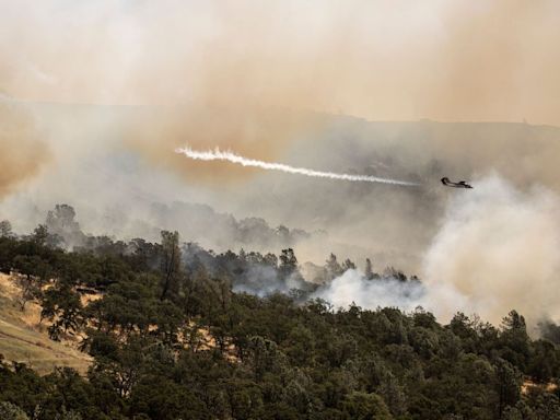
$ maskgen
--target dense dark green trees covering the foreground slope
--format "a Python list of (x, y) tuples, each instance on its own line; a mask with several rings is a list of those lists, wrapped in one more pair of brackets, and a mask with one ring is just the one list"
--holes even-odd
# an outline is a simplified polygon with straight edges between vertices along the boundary
[[(534, 340), (515, 311), (497, 328), (462, 313), (441, 325), (422, 308), (334, 308), (307, 299), (315, 285), (291, 249), (215, 255), (165, 231), (155, 244), (62, 242), (2, 222), (0, 270), (22, 310), (40, 303), (51, 339), (79, 335), (94, 363), (86, 377), (39, 376), (0, 360), (2, 419), (560, 419), (552, 324)], [(331, 256), (326, 281), (352, 267)], [(292, 290), (233, 291), (259, 273)], [(522, 393), (527, 378), (544, 385)]]

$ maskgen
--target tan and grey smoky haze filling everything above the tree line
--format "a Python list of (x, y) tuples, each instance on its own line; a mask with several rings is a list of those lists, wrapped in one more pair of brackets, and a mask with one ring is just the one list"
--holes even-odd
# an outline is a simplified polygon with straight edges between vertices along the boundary
[[(516, 238), (535, 243), (541, 228), (532, 221), (550, 219), (541, 201), (560, 191), (558, 2), (0, 7), (0, 219), (18, 231), (68, 202), (85, 232), (156, 240), (160, 229), (177, 229), (217, 250), (289, 244), (316, 264), (330, 252), (359, 266), (371, 257), (378, 270), (393, 265), (427, 284), (450, 283), (492, 319), (508, 305), (537, 317), (540, 300), (556, 314), (545, 287), (523, 292), (537, 280), (558, 291), (545, 280), (556, 255), (534, 250), (547, 267), (539, 270), (523, 262)], [(423, 187), (191, 162), (173, 152), (186, 143)], [(471, 180), (475, 192), (445, 189), (442, 176)], [(471, 208), (462, 200), (485, 208), (494, 197), (506, 205), (489, 214), (504, 219), (475, 210), (468, 223), (454, 219)], [(295, 234), (278, 241), (278, 225)], [(511, 246), (492, 250), (504, 237)], [(463, 273), (469, 256), (503, 278)], [(524, 276), (492, 312), (481, 293), (498, 294), (510, 270)], [(467, 288), (475, 275), (483, 283)]]

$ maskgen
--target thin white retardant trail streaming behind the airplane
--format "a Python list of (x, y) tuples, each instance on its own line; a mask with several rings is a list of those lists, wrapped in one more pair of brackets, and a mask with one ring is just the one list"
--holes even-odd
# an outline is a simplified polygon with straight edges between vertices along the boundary
[(226, 161), (231, 163), (236, 163), (243, 166), (253, 166), (260, 167), (266, 171), (280, 171), (285, 172), (288, 174), (298, 174), (312, 176), (316, 178), (329, 178), (329, 179), (342, 179), (342, 180), (351, 180), (351, 182), (365, 182), (365, 183), (382, 183), (382, 184), (393, 184), (393, 185), (402, 185), (407, 187), (418, 186), (417, 183), (410, 183), (406, 180), (398, 179), (389, 179), (389, 178), (380, 178), (377, 176), (371, 175), (351, 175), (351, 174), (337, 174), (332, 172), (323, 172), (323, 171), (314, 171), (307, 170), (305, 167), (294, 167), (290, 165), (285, 165), (283, 163), (272, 163), (272, 162), (262, 162), (257, 161), (255, 159), (247, 159), (240, 156), (230, 151), (222, 151), (219, 148), (214, 150), (208, 150), (205, 152), (196, 151), (186, 148), (178, 148), (175, 150), (176, 153), (182, 153), (187, 158), (194, 159), (196, 161)]

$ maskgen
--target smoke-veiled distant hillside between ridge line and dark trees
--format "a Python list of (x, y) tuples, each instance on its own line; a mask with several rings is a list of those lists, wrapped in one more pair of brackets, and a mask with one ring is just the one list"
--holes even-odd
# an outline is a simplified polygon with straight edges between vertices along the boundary
[[(0, 202), (2, 218), (11, 220), (19, 232), (28, 232), (43, 222), (54, 202), (68, 202), (81, 215), (82, 230), (97, 235), (156, 241), (160, 230), (177, 230), (215, 252), (244, 247), (268, 253), (292, 247), (314, 264), (334, 252), (353, 260), (370, 257), (382, 268), (396, 265), (418, 273), (448, 201), (457, 196), (457, 191), (441, 188), (443, 176), (469, 180), (477, 187), (486, 177), (498, 175), (521, 192), (535, 186), (555, 194), (560, 190), (557, 127), (384, 122), (293, 112), (290, 119), (308, 121), (312, 132), (285, 137), (278, 150), (265, 153), (256, 140), (270, 135), (262, 121), (254, 122), (255, 139), (245, 139), (238, 147), (220, 144), (220, 137), (215, 142), (212, 138), (212, 142), (198, 144), (198, 136), (183, 130), (188, 113), (180, 106), (10, 106), (36, 116), (45, 131), (57, 139), (48, 144), (54, 159), (40, 162), (40, 176), (30, 172), (28, 179), (18, 184), (16, 194)], [(1, 109), (0, 115), (11, 118)], [(92, 124), (100, 120), (107, 121), (102, 131)], [(178, 132), (170, 139), (168, 131), (175, 128)], [(100, 138), (129, 140), (107, 147)], [(422, 187), (326, 182), (246, 171), (228, 163), (190, 162), (173, 153), (187, 141), (200, 150), (220, 145), (252, 159), (417, 180)], [(77, 148), (80, 143), (89, 144), (89, 149)], [(222, 185), (225, 179), (230, 179), (226, 187)], [(288, 226), (289, 231), (277, 226)]]

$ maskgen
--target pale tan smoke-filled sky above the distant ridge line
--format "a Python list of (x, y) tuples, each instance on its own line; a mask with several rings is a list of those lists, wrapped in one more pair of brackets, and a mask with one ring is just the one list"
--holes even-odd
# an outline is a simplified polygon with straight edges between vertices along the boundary
[(0, 0), (0, 91), (560, 125), (560, 2)]

